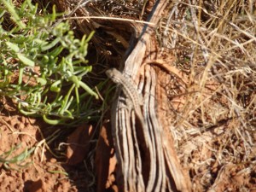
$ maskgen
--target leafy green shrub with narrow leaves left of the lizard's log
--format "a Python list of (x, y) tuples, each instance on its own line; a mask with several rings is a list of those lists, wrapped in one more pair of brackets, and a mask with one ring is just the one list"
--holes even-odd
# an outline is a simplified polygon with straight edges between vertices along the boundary
[[(90, 101), (84, 98), (98, 97), (82, 81), (92, 68), (85, 56), (93, 32), (75, 38), (68, 22), (56, 21), (55, 7), (52, 14), (38, 15), (30, 0), (20, 8), (0, 2), (0, 96), (52, 125), (88, 117)], [(13, 25), (7, 27), (9, 17)]]

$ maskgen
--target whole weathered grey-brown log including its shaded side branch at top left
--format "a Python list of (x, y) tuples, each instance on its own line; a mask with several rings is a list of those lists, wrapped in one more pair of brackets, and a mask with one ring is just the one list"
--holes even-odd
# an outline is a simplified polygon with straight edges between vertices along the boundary
[[(62, 10), (70, 9), (71, 4), (73, 8), (76, 7), (74, 1), (56, 1), (62, 5)], [(137, 94), (143, 96), (143, 106), (139, 108), (144, 123), (138, 122), (134, 103), (119, 86), (111, 113), (113, 145), (117, 157), (115, 180), (119, 191), (192, 191), (189, 177), (186, 177), (177, 159), (169, 131), (170, 124), (163, 117), (168, 99), (158, 80), (158, 72), (165, 68), (165, 61), (159, 60), (154, 30), (168, 3), (166, 0), (155, 1), (148, 15), (148, 23), (96, 18), (78, 20), (80, 30), (87, 34), (98, 27), (113, 38), (120, 38), (120, 31), (131, 33), (130, 47), (119, 70), (124, 78), (134, 84)], [(90, 16), (83, 7), (77, 8), (76, 15)], [(101, 44), (100, 39), (92, 38), (92, 41)], [(124, 42), (124, 47), (127, 45), (126, 39), (119, 40)]]

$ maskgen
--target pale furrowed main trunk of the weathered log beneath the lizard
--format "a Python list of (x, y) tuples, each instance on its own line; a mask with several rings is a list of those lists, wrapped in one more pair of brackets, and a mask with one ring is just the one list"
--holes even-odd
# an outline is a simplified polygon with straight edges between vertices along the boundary
[[(166, 4), (165, 0), (156, 1), (147, 21), (157, 24)], [(142, 111), (147, 132), (137, 124), (134, 111), (127, 108), (127, 98), (119, 90), (112, 113), (119, 175), (124, 178), (119, 186), (124, 186), (121, 191), (191, 191), (190, 181), (177, 160), (172, 136), (168, 134), (168, 124), (158, 117), (158, 102), (167, 101), (157, 100), (157, 73), (154, 67), (147, 65), (158, 59), (154, 27), (137, 26), (138, 29), (141, 31), (137, 44), (125, 61), (123, 75), (132, 79), (143, 95)], [(145, 143), (144, 137), (150, 138), (149, 143)]]

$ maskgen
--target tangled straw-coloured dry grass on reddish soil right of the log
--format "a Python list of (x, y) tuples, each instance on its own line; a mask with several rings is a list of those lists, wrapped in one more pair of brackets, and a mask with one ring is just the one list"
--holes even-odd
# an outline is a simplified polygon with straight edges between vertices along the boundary
[(195, 191), (256, 187), (255, 13), (253, 1), (172, 2), (160, 24), (162, 47), (195, 91), (179, 98), (171, 128)]

